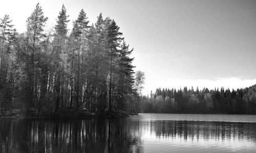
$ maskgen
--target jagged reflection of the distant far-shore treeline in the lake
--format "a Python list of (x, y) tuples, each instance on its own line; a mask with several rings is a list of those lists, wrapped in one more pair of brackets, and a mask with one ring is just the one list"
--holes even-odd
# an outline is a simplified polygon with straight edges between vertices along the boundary
[[(157, 138), (177, 138), (187, 141), (200, 139), (227, 141), (231, 139), (252, 141), (256, 143), (256, 124), (238, 122), (206, 121), (148, 121), (151, 127), (148, 133)], [(145, 124), (144, 123), (144, 124)]]

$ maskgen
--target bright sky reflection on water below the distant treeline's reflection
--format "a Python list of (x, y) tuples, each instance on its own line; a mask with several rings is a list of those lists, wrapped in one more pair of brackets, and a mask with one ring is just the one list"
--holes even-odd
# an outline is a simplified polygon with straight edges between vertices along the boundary
[[(195, 152), (205, 150), (209, 151), (252, 151), (256, 149), (255, 142), (246, 140), (246, 139), (238, 139), (237, 137), (232, 137), (228, 140), (220, 140), (215, 138), (205, 139), (200, 136), (200, 139), (188, 137), (188, 139), (184, 139), (184, 137), (156, 137), (155, 132), (151, 133), (150, 130), (143, 130), (142, 132), (142, 140), (144, 140), (144, 151), (150, 152), (154, 150), (158, 150), (162, 152), (164, 150), (183, 150), (192, 149)], [(191, 151), (192, 151), (191, 150)], [(173, 150), (174, 151), (174, 150)], [(183, 150), (184, 151), (184, 150)]]

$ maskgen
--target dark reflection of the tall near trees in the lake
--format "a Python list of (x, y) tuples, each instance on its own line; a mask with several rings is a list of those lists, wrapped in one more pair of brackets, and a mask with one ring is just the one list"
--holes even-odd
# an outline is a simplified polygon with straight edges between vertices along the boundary
[(136, 126), (123, 119), (0, 119), (0, 152), (135, 152)]

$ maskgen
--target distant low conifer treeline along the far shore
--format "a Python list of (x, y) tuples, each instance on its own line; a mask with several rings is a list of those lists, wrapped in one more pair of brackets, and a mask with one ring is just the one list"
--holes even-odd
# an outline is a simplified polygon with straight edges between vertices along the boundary
[(157, 89), (140, 101), (143, 113), (256, 114), (256, 84), (230, 91)]

